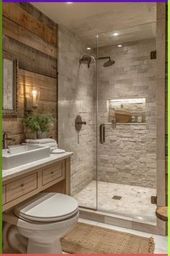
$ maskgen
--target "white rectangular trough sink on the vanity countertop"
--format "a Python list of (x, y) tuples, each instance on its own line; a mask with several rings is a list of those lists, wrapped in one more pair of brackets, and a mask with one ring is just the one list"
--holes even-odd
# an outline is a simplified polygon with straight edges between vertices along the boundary
[(2, 166), (4, 170), (32, 163), (50, 156), (50, 147), (34, 145), (17, 145), (2, 150)]

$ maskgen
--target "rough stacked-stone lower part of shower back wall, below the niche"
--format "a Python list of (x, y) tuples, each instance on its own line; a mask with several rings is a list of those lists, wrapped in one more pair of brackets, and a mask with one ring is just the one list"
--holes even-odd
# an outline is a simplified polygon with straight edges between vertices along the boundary
[(146, 124), (107, 124), (105, 143), (99, 145), (99, 181), (155, 187), (155, 144)]

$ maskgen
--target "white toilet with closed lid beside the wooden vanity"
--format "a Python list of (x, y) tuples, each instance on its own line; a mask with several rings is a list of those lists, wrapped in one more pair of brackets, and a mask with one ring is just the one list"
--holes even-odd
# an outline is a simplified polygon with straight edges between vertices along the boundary
[(79, 219), (78, 203), (59, 193), (40, 193), (3, 214), (4, 253), (61, 254), (61, 237)]

